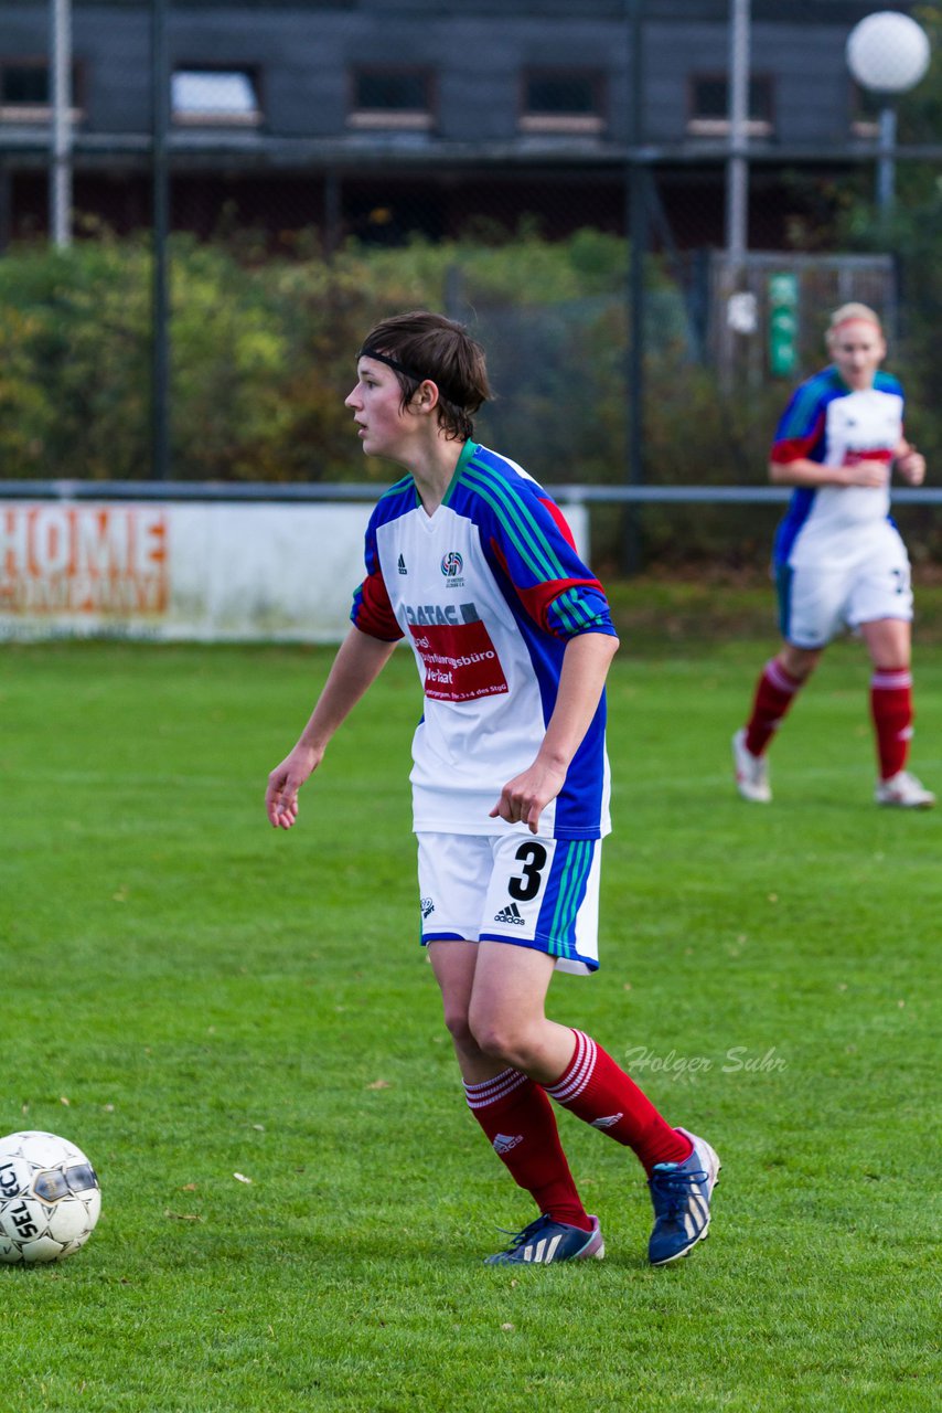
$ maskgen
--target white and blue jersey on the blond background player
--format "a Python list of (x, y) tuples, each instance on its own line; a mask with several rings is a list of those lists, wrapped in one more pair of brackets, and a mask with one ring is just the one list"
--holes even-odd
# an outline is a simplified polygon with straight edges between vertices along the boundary
[(878, 534), (890, 514), (890, 473), (902, 437), (902, 387), (890, 373), (877, 373), (873, 387), (852, 390), (836, 367), (828, 367), (795, 390), (775, 431), (773, 463), (883, 461), (887, 480), (880, 487), (798, 486), (775, 537), (777, 564), (866, 555), (867, 527)]

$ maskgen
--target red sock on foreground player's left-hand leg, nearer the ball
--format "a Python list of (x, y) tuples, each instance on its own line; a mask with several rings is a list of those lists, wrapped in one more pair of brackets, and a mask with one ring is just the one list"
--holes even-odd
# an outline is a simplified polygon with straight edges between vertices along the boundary
[(539, 1211), (592, 1231), (562, 1152), (556, 1116), (539, 1085), (520, 1070), (504, 1070), (483, 1084), (466, 1084), (465, 1096), (494, 1153)]

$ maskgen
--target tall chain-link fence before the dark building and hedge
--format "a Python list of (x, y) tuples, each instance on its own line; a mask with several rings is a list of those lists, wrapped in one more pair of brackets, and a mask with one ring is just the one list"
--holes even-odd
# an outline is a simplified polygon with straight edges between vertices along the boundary
[[(756, 0), (733, 257), (733, 7), (679, 8), (0, 4), (0, 478), (362, 478), (352, 355), (418, 305), (489, 350), (482, 439), (548, 482), (678, 486), (764, 483), (863, 300), (942, 465), (935, 61), (881, 147), (843, 54), (869, 6)], [(935, 41), (938, 6), (897, 8)], [(641, 547), (754, 562), (770, 523), (645, 507)], [(942, 552), (928, 512), (912, 533)]]

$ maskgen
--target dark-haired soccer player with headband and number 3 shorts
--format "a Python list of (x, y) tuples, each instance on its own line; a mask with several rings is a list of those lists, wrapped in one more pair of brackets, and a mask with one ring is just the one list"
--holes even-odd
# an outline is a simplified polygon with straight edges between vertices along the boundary
[(652, 1265), (706, 1236), (719, 1159), (672, 1128), (596, 1041), (547, 1019), (555, 969), (597, 962), (609, 832), (604, 678), (617, 649), (602, 585), (558, 506), (472, 439), (484, 356), (442, 315), (378, 324), (346, 398), (364, 452), (407, 475), (378, 502), (366, 577), (314, 714), (268, 777), (270, 822), (405, 639), (424, 688), (412, 743), (421, 937), (465, 1095), (538, 1215), (493, 1263), (602, 1256), (551, 1098), (634, 1150), (650, 1183)]

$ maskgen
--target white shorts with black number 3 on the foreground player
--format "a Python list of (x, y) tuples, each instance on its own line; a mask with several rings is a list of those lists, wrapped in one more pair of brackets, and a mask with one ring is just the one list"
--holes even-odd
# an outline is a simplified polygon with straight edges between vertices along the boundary
[(497, 941), (599, 968), (600, 839), (418, 834), (422, 945)]

